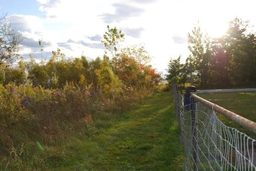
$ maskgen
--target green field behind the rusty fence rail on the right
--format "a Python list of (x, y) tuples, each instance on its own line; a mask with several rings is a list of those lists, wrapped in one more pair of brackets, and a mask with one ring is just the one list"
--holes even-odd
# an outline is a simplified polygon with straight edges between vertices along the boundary
[[(256, 122), (256, 92), (251, 93), (212, 93), (212, 94), (198, 94), (200, 97), (211, 101), (219, 106), (224, 107), (244, 118), (250, 119)], [(256, 135), (240, 125), (230, 121), (223, 115), (218, 115), (224, 124), (235, 127), (241, 132), (246, 133), (252, 138), (256, 138)]]

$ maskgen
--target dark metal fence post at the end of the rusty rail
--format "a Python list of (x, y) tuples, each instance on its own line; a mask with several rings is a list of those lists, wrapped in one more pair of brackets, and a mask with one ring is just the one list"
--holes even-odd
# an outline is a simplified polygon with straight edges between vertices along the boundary
[(195, 86), (189, 86), (185, 90), (184, 100), (187, 110), (191, 112), (191, 131), (192, 131), (192, 156), (194, 160), (194, 171), (198, 170), (198, 157), (197, 157), (197, 123), (196, 123), (196, 99), (191, 97), (196, 92)]

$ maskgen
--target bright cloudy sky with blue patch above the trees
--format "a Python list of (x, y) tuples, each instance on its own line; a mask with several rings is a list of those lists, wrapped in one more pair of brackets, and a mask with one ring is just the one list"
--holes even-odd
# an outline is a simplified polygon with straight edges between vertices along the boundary
[(151, 64), (166, 73), (170, 58), (189, 55), (187, 33), (199, 22), (212, 38), (223, 35), (235, 17), (256, 25), (255, 0), (0, 0), (0, 13), (21, 32), (21, 56), (38, 61), (60, 50), (67, 57), (95, 59), (107, 25), (125, 34), (122, 47), (145, 44)]

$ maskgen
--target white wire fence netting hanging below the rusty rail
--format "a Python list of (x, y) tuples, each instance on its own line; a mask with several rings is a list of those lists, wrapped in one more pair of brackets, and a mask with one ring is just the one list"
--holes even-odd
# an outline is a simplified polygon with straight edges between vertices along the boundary
[(223, 124), (203, 103), (184, 106), (181, 94), (175, 100), (185, 171), (256, 171), (255, 139)]

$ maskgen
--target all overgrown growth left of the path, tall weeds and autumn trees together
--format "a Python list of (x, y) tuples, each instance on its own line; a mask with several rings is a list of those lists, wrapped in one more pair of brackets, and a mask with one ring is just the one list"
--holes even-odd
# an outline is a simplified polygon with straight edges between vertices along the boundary
[(13, 68), (14, 53), (6, 56), (0, 65), (1, 169), (35, 169), (48, 158), (38, 158), (37, 149), (70, 141), (78, 131), (93, 133), (94, 121), (125, 111), (154, 91), (160, 74), (137, 62), (133, 56), (140, 54), (122, 53), (118, 42), (123, 39), (120, 30), (108, 27), (102, 42), (112, 56), (106, 52), (91, 61), (66, 60), (57, 49), (48, 62), (36, 63), (31, 55), (30, 62), (21, 59)]

